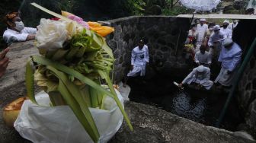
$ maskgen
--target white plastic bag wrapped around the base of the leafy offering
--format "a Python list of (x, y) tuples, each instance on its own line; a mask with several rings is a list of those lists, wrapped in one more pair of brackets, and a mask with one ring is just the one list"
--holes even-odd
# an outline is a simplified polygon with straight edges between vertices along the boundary
[[(123, 104), (123, 97), (116, 92)], [(14, 122), (14, 128), (23, 138), (40, 143), (93, 142), (69, 106), (50, 107), (48, 94), (43, 91), (36, 98), (41, 106), (24, 101)], [(99, 142), (109, 141), (123, 122), (123, 115), (112, 98), (106, 97), (104, 107), (107, 110), (89, 109), (101, 135)]]

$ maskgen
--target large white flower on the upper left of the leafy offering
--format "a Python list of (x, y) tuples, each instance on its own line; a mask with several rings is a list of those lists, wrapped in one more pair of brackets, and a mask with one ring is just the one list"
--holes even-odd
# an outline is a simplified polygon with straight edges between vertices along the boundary
[(53, 21), (42, 18), (37, 27), (37, 48), (43, 51), (62, 48), (63, 43), (70, 38), (67, 21)]

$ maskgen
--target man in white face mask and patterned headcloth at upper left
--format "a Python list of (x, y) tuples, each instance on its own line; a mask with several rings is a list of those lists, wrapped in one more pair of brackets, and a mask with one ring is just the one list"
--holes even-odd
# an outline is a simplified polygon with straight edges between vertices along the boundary
[(3, 34), (3, 39), (8, 45), (14, 42), (34, 40), (37, 28), (24, 27), (18, 12), (11, 12), (5, 16), (7, 30)]

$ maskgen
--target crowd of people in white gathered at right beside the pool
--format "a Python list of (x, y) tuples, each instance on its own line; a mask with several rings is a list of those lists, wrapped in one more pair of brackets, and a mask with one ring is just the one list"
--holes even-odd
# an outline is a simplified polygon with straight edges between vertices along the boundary
[(213, 81), (210, 81), (210, 65), (214, 57), (221, 62), (221, 69), (214, 83), (224, 87), (232, 86), (232, 79), (242, 56), (241, 47), (232, 41), (232, 31), (237, 25), (237, 20), (232, 20), (232, 23), (225, 20), (220, 27), (213, 23), (206, 24), (205, 19), (200, 19), (200, 24), (192, 25), (186, 43), (194, 44), (192, 52), (197, 67), (179, 84), (180, 87), (194, 83), (198, 88), (205, 87), (209, 90), (213, 86)]

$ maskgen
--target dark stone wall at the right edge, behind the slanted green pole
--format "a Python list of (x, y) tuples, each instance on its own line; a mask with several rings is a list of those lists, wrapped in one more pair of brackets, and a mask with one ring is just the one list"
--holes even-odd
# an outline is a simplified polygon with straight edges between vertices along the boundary
[[(248, 32), (250, 31), (250, 32)], [(247, 53), (252, 41), (256, 37), (256, 21), (243, 20), (240, 21), (238, 27), (234, 31), (233, 40), (242, 46), (244, 51), (243, 58)], [(255, 49), (255, 47), (254, 47)], [(245, 116), (245, 129), (251, 131), (251, 134), (256, 137), (256, 50), (254, 56), (248, 62), (244, 74), (238, 86), (238, 103), (242, 108), (242, 113)]]

